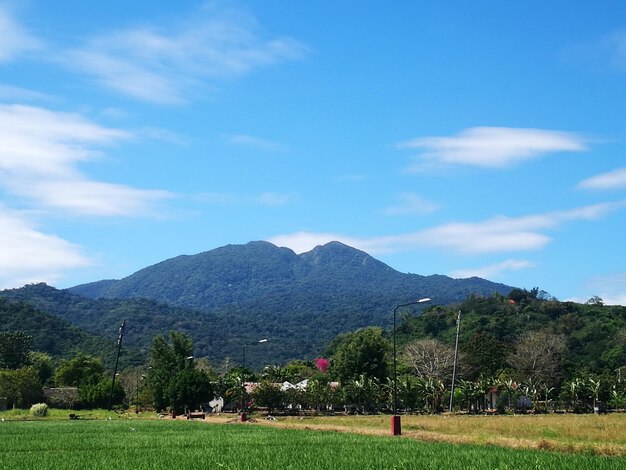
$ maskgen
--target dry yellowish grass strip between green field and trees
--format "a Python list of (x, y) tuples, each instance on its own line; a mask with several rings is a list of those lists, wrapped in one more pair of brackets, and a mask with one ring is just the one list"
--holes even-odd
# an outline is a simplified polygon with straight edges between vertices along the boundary
[[(208, 421), (232, 417), (212, 416)], [(389, 416), (286, 417), (258, 423), (286, 428), (386, 435)], [(626, 414), (517, 416), (403, 416), (405, 438), (567, 453), (626, 456)]]

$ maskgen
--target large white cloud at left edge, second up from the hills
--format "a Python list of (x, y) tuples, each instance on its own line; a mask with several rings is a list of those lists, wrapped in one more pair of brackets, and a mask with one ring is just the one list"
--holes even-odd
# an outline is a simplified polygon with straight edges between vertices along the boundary
[(78, 114), (0, 105), (0, 187), (77, 215), (150, 215), (169, 193), (92, 181), (78, 170), (100, 155), (96, 148), (129, 138)]

